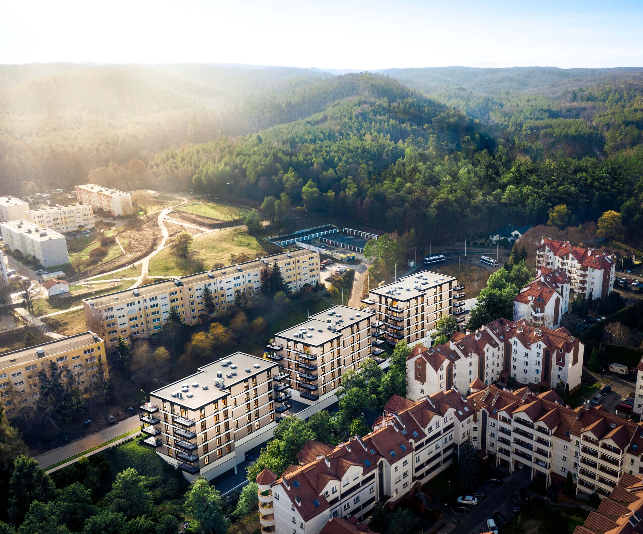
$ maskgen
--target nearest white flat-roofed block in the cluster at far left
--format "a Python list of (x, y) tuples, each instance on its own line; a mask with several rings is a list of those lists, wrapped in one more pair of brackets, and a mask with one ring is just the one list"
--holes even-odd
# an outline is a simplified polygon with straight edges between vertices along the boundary
[(37, 258), (43, 267), (69, 263), (65, 236), (56, 231), (24, 219), (0, 223), (0, 231), (10, 250)]

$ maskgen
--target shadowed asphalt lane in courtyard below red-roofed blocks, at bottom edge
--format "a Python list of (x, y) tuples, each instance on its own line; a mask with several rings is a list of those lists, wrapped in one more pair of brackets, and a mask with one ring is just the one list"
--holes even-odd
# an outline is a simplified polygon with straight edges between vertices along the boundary
[[(483, 484), (478, 491), (487, 494), (484, 499), (478, 499), (478, 504), (473, 506), (470, 513), (455, 513), (457, 526), (451, 530), (450, 534), (478, 534), (487, 531), (487, 519), (495, 512), (505, 516), (507, 521), (514, 517), (511, 512), (511, 506), (508, 505), (511, 494), (517, 493), (523, 486), (530, 484), (531, 470), (527, 467), (518, 469), (511, 476), (505, 479), (502, 486), (494, 484)], [(450, 518), (454, 515), (448, 513)]]

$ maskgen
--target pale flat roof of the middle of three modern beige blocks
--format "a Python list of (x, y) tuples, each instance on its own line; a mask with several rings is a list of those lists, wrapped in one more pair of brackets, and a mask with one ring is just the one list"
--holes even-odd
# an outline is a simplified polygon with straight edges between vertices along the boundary
[[(359, 323), (359, 321), (363, 321), (374, 315), (374, 312), (368, 312), (367, 310), (358, 310), (357, 308), (338, 305), (314, 314), (307, 321), (282, 330), (282, 332), (278, 332), (275, 336), (312, 346), (321, 346), (324, 343), (329, 343), (331, 339), (336, 339), (343, 328)], [(329, 319), (332, 325), (337, 327), (336, 330), (330, 330), (328, 328)], [(304, 332), (303, 337), (296, 335), (300, 332)]]

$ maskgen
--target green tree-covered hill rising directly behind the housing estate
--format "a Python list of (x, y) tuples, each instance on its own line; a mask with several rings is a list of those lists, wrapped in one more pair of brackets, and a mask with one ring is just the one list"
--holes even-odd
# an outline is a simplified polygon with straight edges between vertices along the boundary
[(603, 160), (532, 159), (520, 141), (502, 131), (496, 141), (481, 123), (395, 80), (340, 78), (361, 84), (361, 94), (258, 135), (167, 151), (150, 168), (162, 184), (192, 175), (195, 188), (215, 195), (285, 193), (280, 208), (292, 202), (439, 241), (471, 228), (547, 222), (559, 204), (569, 210), (561, 224), (595, 222), (614, 209), (636, 229), (643, 216), (643, 146)]

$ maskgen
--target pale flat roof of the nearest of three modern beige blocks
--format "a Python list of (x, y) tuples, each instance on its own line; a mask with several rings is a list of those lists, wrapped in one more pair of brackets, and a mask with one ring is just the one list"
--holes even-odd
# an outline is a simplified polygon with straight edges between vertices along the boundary
[[(181, 380), (168, 384), (168, 386), (156, 389), (150, 395), (195, 410), (209, 402), (214, 402), (219, 398), (230, 395), (230, 387), (235, 386), (235, 384), (244, 382), (260, 373), (265, 373), (267, 369), (272, 369), (276, 366), (276, 362), (270, 362), (244, 352), (235, 352), (221, 360), (199, 367), (194, 375), (188, 375), (185, 378), (181, 378)], [(217, 373), (222, 374), (224, 387), (214, 385)], [(188, 391), (183, 391), (186, 387)], [(204, 389), (204, 387), (207, 387), (207, 389)], [(172, 396), (172, 393), (177, 392), (182, 393), (183, 396), (181, 398)]]

